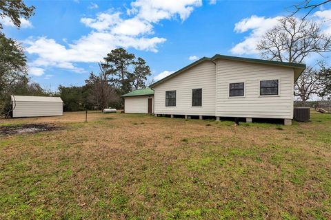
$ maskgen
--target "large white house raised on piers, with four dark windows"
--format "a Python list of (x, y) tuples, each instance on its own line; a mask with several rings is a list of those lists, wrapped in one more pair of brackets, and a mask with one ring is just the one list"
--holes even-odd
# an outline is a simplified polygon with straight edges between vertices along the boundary
[(278, 118), (291, 124), (294, 81), (305, 65), (254, 58), (203, 57), (150, 85), (155, 115)]

